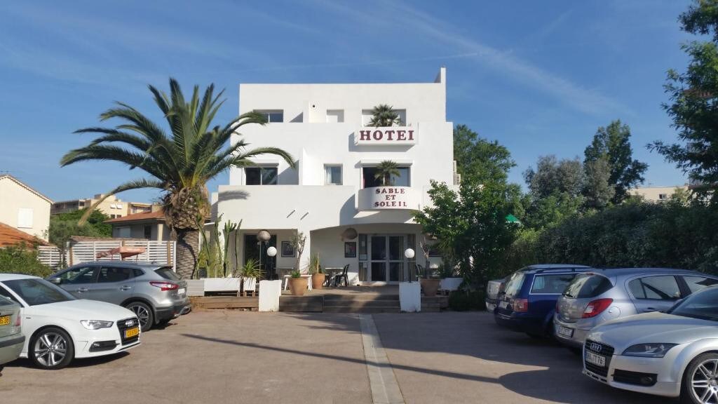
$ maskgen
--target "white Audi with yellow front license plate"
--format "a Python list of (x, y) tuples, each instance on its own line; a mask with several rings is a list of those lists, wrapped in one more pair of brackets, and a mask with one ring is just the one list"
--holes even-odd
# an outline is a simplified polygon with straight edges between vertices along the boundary
[(61, 369), (74, 358), (99, 357), (140, 344), (132, 311), (95, 300), (78, 300), (40, 277), (0, 274), (0, 295), (22, 308), (27, 336), (20, 357), (37, 367)]

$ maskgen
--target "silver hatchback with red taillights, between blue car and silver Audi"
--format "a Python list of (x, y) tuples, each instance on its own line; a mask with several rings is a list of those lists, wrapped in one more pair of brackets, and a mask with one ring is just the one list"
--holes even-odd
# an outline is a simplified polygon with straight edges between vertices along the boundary
[(689, 270), (623, 268), (578, 275), (556, 301), (554, 331), (561, 343), (579, 349), (588, 331), (614, 318), (666, 311), (677, 300), (718, 277)]

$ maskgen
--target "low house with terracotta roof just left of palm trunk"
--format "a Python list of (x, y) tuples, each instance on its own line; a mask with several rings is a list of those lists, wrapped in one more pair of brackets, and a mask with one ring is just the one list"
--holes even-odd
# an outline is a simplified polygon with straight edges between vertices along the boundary
[(153, 207), (150, 212), (131, 214), (110, 219), (105, 223), (112, 225), (112, 237), (115, 239), (146, 239), (152, 241), (169, 240), (169, 226), (164, 222), (164, 212)]

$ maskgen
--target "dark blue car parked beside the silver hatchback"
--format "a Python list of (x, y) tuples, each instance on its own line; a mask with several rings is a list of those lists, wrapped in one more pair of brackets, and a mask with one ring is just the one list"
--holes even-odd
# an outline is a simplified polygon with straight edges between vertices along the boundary
[(534, 338), (554, 332), (556, 301), (585, 265), (529, 265), (510, 275), (497, 298), (494, 319), (500, 326), (525, 332)]

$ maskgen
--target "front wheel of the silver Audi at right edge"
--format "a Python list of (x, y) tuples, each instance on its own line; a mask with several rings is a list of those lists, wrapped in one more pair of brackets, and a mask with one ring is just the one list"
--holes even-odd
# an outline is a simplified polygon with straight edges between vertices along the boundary
[(681, 388), (684, 403), (718, 403), (718, 354), (702, 354), (686, 368)]

